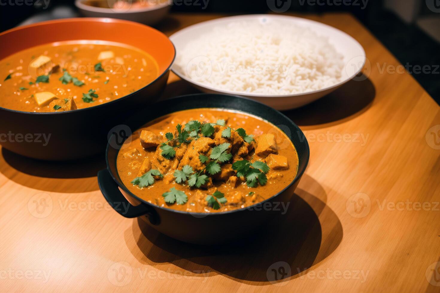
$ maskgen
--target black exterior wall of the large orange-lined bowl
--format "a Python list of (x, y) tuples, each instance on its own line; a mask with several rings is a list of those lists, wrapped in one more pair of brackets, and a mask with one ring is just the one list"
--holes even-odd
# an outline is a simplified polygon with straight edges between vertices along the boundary
[(103, 152), (109, 130), (134, 109), (151, 105), (165, 89), (169, 71), (123, 98), (71, 112), (31, 113), (0, 108), (0, 144), (22, 156), (73, 160)]

